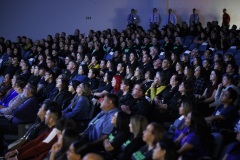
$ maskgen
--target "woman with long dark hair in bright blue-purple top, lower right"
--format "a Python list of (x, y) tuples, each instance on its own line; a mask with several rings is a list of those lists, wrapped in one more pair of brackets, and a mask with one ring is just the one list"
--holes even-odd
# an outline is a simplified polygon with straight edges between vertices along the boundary
[(183, 131), (180, 149), (178, 153), (183, 159), (198, 159), (209, 156), (212, 146), (212, 136), (209, 127), (203, 117), (197, 112), (188, 113), (185, 119), (188, 126)]

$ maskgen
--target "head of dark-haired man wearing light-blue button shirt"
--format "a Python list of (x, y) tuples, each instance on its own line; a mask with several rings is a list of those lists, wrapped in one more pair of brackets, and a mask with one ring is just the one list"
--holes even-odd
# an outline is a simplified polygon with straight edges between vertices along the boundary
[(118, 97), (115, 94), (107, 94), (104, 96), (100, 105), (102, 111), (109, 111), (118, 106)]

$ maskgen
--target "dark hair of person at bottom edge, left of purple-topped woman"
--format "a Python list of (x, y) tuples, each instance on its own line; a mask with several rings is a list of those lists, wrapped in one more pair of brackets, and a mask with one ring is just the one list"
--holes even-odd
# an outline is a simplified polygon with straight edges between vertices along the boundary
[(162, 150), (165, 150), (165, 160), (176, 160), (178, 158), (177, 148), (173, 141), (169, 139), (162, 139), (159, 142), (159, 146)]

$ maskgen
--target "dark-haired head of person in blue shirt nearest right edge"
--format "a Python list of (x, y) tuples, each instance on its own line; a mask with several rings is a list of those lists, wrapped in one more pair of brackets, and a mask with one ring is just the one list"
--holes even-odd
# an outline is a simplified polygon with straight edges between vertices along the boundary
[(237, 92), (233, 88), (229, 87), (226, 91), (223, 92), (221, 102), (223, 104), (233, 104), (236, 99)]

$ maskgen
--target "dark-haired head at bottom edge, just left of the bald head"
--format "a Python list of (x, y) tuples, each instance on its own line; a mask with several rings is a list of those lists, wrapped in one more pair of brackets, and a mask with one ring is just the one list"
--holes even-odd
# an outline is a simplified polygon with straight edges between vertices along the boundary
[(81, 160), (90, 151), (90, 146), (84, 141), (74, 141), (67, 151), (68, 160)]

